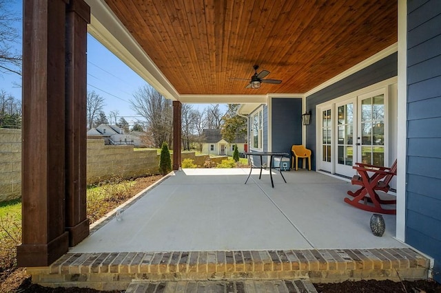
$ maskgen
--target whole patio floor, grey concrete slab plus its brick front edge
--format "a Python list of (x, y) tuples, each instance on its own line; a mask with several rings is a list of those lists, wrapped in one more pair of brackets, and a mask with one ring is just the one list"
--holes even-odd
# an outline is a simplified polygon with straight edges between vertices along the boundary
[(316, 292), (311, 282), (427, 276), (429, 259), (395, 239), (395, 215), (376, 237), (371, 213), (343, 202), (348, 182), (300, 170), (285, 184), (274, 172), (271, 188), (268, 171), (244, 184), (248, 172), (174, 171), (27, 272), (45, 286), (127, 292)]

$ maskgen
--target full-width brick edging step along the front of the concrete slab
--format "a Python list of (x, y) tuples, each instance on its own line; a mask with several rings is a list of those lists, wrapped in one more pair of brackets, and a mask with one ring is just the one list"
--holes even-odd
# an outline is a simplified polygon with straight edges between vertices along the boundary
[(410, 248), (98, 252), (67, 253), (49, 267), (27, 272), (32, 282), (48, 287), (126, 290), (136, 281), (157, 287), (167, 281), (417, 280), (427, 279), (429, 265), (427, 257)]

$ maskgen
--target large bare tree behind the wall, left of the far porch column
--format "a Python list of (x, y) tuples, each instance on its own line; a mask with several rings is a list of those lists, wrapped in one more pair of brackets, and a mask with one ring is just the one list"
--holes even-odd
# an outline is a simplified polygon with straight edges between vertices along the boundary
[(147, 133), (152, 135), (154, 146), (159, 148), (163, 142), (172, 145), (172, 102), (159, 94), (156, 89), (145, 85), (136, 91), (130, 103), (132, 109), (145, 118)]

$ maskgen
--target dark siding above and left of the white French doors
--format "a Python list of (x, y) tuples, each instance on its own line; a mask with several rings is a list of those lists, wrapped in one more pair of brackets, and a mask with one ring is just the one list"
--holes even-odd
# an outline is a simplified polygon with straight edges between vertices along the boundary
[(306, 109), (307, 111), (311, 111), (311, 124), (307, 126), (306, 147), (312, 151), (311, 164), (314, 170), (316, 169), (316, 105), (319, 105), (322, 102), (333, 100), (334, 98), (338, 98), (340, 96), (344, 96), (345, 94), (349, 94), (358, 89), (368, 87), (369, 85), (379, 83), (387, 78), (397, 76), (397, 74), (398, 54), (395, 53), (366, 67), (365, 69), (360, 70), (359, 72), (356, 72), (355, 74), (352, 74), (351, 76), (348, 76), (347, 78), (338, 81), (338, 83), (329, 85), (329, 87), (307, 96)]

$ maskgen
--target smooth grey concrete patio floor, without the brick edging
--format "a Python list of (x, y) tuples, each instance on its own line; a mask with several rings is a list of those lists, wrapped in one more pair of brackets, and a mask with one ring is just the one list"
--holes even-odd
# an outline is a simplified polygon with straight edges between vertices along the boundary
[[(273, 171), (274, 172), (274, 171)], [(404, 248), (394, 239), (396, 216), (373, 236), (371, 212), (343, 202), (349, 182), (314, 171), (284, 172), (287, 184), (258, 170), (184, 169), (122, 207), (70, 252), (172, 252)]]

